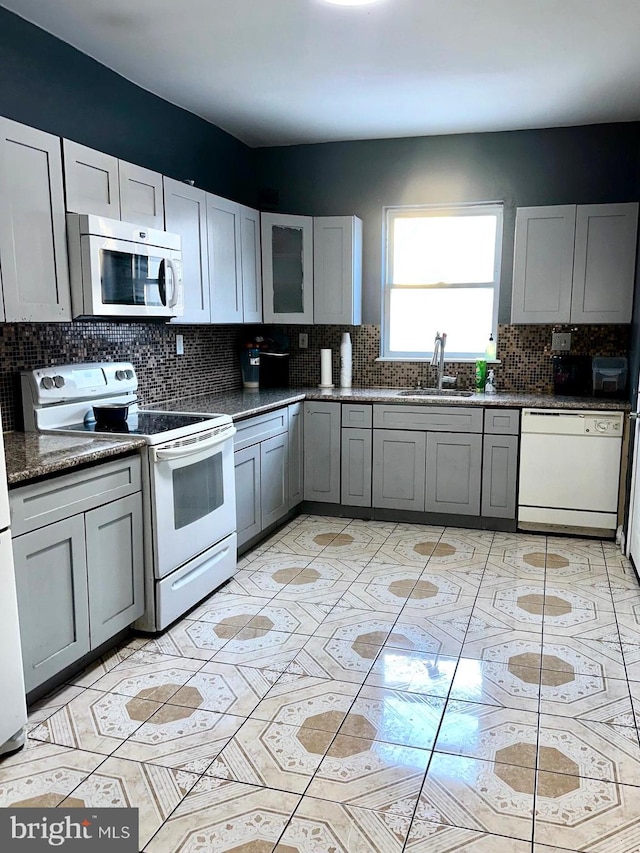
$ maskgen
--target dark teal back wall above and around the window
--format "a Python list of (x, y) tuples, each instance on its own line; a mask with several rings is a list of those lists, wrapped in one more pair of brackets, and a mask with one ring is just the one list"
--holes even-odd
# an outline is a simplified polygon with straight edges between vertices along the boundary
[(380, 139), (257, 151), (278, 210), (364, 221), (364, 320), (379, 322), (382, 207), (505, 204), (500, 321), (509, 322), (515, 208), (640, 198), (640, 123)]

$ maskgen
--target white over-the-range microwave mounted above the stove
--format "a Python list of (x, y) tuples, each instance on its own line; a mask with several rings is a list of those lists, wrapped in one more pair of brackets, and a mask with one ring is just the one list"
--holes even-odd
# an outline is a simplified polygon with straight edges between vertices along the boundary
[(74, 318), (182, 316), (179, 234), (67, 213), (67, 243)]

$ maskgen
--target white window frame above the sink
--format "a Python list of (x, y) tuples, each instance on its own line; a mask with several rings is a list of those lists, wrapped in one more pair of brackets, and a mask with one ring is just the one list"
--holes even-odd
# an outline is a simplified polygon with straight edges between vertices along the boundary
[[(492, 282), (458, 282), (456, 284), (446, 284), (444, 282), (432, 282), (425, 284), (398, 285), (391, 283), (392, 275), (392, 259), (393, 259), (393, 222), (401, 217), (415, 216), (477, 216), (480, 213), (491, 214), (496, 216), (496, 245), (493, 264), (493, 281)], [(491, 332), (494, 341), (498, 341), (498, 307), (500, 302), (500, 274), (502, 267), (502, 235), (504, 223), (504, 209), (502, 202), (482, 202), (474, 204), (447, 204), (447, 205), (406, 205), (406, 206), (389, 206), (383, 208), (383, 263), (382, 263), (382, 334), (380, 336), (380, 359), (379, 361), (429, 361), (433, 356), (433, 349), (420, 352), (408, 352), (390, 350), (389, 348), (389, 329), (390, 329), (390, 309), (391, 309), (391, 291), (395, 289), (411, 289), (411, 290), (428, 290), (432, 288), (487, 288), (493, 287), (493, 317)], [(446, 332), (446, 329), (440, 331)], [(487, 338), (488, 340), (488, 338)], [(445, 350), (446, 361), (475, 361), (476, 358), (484, 356), (484, 352), (479, 353), (455, 353)]]

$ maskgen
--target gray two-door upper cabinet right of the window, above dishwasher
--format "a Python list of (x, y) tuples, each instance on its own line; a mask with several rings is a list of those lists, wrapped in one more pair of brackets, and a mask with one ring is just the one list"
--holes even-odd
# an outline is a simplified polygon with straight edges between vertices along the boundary
[(518, 208), (512, 323), (629, 323), (638, 204)]

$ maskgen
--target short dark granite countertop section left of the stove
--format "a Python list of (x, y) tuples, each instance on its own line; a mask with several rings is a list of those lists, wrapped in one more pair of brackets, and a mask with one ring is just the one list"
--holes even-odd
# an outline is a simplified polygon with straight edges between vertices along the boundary
[(100, 462), (139, 450), (140, 438), (85, 438), (36, 432), (5, 432), (4, 452), (10, 486), (48, 477), (78, 465)]

